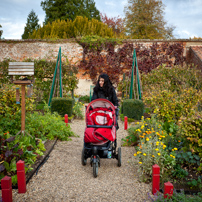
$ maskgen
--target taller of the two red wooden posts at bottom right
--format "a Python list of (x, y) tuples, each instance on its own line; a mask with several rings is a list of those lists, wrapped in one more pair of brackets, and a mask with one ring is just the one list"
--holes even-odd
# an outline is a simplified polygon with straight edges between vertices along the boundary
[(155, 164), (152, 166), (152, 194), (156, 194), (160, 187), (160, 167)]

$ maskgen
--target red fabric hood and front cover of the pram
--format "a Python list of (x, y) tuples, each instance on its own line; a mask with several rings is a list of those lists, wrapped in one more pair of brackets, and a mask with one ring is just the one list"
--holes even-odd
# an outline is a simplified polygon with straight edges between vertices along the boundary
[(116, 139), (116, 113), (114, 105), (106, 99), (90, 102), (85, 114), (84, 142), (102, 145)]

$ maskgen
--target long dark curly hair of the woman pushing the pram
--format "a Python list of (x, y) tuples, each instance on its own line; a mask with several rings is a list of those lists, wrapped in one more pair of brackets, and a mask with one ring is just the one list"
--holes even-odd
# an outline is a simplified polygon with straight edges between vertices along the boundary
[(104, 79), (104, 85), (103, 85), (102, 89), (104, 91), (105, 97), (109, 97), (109, 95), (113, 93), (113, 86), (112, 86), (112, 82), (109, 79), (109, 76), (105, 73), (100, 74), (100, 76), (98, 77), (98, 81), (94, 87), (94, 91), (98, 92), (99, 89), (101, 89), (100, 84), (99, 84), (100, 78)]

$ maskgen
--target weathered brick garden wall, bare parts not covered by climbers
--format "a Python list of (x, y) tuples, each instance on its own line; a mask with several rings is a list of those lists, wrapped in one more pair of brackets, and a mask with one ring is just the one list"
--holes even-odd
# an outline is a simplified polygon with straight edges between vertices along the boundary
[[(154, 42), (157, 43), (176, 43), (180, 42), (184, 46), (184, 56), (188, 55), (191, 46), (202, 46), (202, 40), (127, 40), (134, 44), (143, 44), (144, 46), (151, 46)], [(83, 48), (73, 39), (64, 39), (58, 41), (46, 40), (0, 40), (0, 61), (4, 58), (11, 58), (16, 61), (23, 61), (26, 58), (33, 59), (50, 59), (56, 60), (58, 56), (59, 47), (61, 47), (62, 54), (65, 55), (71, 63), (77, 63), (82, 59)], [(118, 49), (119, 46), (116, 47)], [(63, 58), (64, 59), (64, 58)], [(79, 70), (78, 78), (79, 84), (76, 93), (79, 95), (88, 95), (90, 85), (92, 82), (88, 75), (85, 77)]]

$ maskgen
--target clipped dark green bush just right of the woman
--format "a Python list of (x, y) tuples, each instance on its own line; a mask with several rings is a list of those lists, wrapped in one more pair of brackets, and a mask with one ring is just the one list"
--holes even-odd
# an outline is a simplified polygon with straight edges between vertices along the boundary
[(144, 103), (141, 100), (126, 99), (123, 101), (123, 114), (128, 118), (140, 120), (144, 114)]

